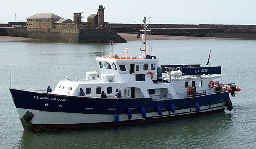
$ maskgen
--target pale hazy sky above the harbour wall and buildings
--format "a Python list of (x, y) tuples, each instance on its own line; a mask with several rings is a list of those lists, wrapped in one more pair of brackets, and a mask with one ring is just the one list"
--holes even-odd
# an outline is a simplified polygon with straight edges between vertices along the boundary
[(256, 25), (256, 0), (1, 0), (0, 23), (26, 21), (36, 13), (54, 13), (73, 20), (83, 12), (84, 22), (103, 5), (104, 21), (138, 23), (152, 17), (152, 24)]

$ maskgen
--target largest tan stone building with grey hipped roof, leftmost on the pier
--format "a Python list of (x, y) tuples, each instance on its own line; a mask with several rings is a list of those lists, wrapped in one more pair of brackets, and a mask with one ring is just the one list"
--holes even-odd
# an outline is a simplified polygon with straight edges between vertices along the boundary
[(27, 28), (53, 28), (53, 24), (60, 19), (53, 13), (37, 13), (27, 18)]

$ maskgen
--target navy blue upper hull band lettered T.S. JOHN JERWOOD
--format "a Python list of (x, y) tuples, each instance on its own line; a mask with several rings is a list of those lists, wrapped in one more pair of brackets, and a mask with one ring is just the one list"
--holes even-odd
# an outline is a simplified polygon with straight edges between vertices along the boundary
[(10, 92), (16, 108), (87, 114), (127, 114), (129, 109), (134, 114), (141, 113), (143, 107), (146, 113), (150, 113), (157, 112), (158, 106), (162, 111), (170, 111), (172, 104), (175, 106), (175, 110), (180, 110), (195, 107), (196, 103), (200, 106), (208, 106), (230, 100), (228, 92), (163, 101), (153, 101), (151, 98), (106, 99), (63, 96), (18, 89), (10, 89)]

